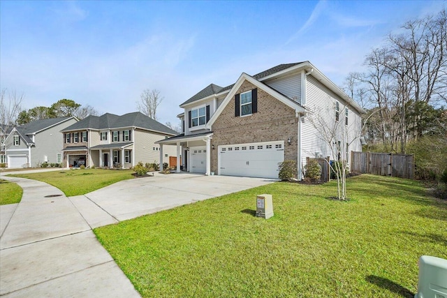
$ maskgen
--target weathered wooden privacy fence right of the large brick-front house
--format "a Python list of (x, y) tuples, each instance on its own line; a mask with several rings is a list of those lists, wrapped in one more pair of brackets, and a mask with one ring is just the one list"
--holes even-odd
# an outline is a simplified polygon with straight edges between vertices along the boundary
[(351, 172), (414, 179), (414, 155), (352, 152)]

